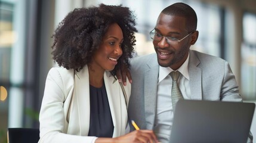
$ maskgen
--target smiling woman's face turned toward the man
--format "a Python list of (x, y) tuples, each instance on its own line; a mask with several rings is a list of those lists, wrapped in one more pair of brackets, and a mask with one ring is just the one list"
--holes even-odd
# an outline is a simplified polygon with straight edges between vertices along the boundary
[(118, 58), (122, 55), (122, 42), (124, 36), (121, 27), (117, 23), (110, 24), (103, 36), (100, 47), (92, 55), (91, 66), (94, 70), (113, 70), (118, 64)]

